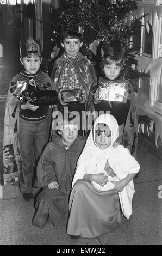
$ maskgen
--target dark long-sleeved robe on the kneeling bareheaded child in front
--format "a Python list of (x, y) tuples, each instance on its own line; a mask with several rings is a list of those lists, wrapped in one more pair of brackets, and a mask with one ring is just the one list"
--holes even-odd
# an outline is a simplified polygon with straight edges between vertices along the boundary
[[(44, 187), (35, 204), (32, 225), (44, 228), (47, 221), (55, 227), (66, 225), (68, 218), (68, 198), (79, 155), (85, 144), (85, 137), (65, 149), (60, 136), (53, 136), (46, 145), (37, 167), (38, 187)], [(49, 189), (48, 184), (57, 181), (59, 188)]]

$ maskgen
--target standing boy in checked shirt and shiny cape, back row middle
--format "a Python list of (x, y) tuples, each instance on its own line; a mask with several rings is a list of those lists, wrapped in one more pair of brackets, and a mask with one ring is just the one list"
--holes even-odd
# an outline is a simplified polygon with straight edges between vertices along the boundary
[(96, 81), (92, 63), (79, 52), (83, 45), (82, 29), (68, 27), (61, 34), (61, 46), (64, 53), (53, 66), (52, 80), (55, 90), (59, 93), (58, 111), (77, 111), (80, 115), (79, 135), (84, 135), (85, 119), (81, 118), (86, 110), (90, 87)]

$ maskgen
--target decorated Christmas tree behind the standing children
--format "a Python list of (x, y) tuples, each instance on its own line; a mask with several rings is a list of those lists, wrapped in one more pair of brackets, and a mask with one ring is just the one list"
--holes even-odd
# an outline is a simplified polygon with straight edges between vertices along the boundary
[[(98, 69), (101, 54), (98, 54), (99, 44), (107, 45), (111, 40), (120, 41), (124, 50), (123, 76), (128, 79), (136, 91), (139, 78), (147, 76), (137, 70), (133, 48), (130, 48), (135, 23), (125, 21), (128, 13), (137, 8), (132, 0), (67, 0), (55, 13), (53, 22), (57, 29), (53, 36), (54, 45), (59, 47), (61, 28), (71, 25), (83, 27), (84, 45), (82, 53), (88, 57)], [(101, 44), (100, 44), (101, 45)]]

